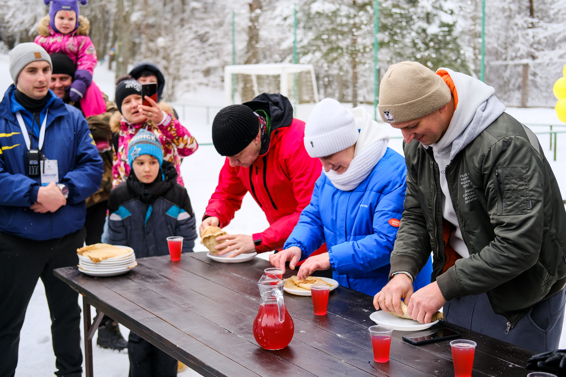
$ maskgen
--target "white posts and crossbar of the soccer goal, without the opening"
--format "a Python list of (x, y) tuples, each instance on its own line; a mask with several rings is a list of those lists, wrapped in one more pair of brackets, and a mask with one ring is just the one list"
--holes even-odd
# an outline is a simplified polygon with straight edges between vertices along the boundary
[(291, 63), (271, 63), (271, 64), (239, 64), (237, 66), (224, 67), (224, 95), (226, 105), (234, 105), (232, 98), (232, 74), (240, 73), (242, 75), (250, 75), (254, 85), (255, 96), (259, 96), (258, 81), (256, 75), (273, 75), (280, 76), (280, 93), (289, 97), (289, 86), (293, 88), (293, 84), (289, 85), (289, 74), (299, 72), (310, 72), (312, 79), (312, 88), (314, 89), (315, 102), (319, 102), (318, 88), (316, 87), (315, 68), (312, 64), (291, 64)]

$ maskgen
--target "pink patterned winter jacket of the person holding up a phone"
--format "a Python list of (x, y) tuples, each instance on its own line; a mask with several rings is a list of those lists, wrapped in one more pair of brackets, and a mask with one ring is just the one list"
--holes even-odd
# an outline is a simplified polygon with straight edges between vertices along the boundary
[[(166, 107), (160, 102), (160, 106)], [(153, 123), (153, 122), (152, 122)], [(165, 119), (162, 123), (155, 125), (153, 128), (148, 123), (132, 124), (127, 122), (119, 112), (110, 119), (110, 127), (113, 132), (119, 132), (118, 150), (114, 153), (114, 162), (112, 167), (112, 187), (126, 181), (130, 174), (130, 165), (128, 164), (128, 144), (130, 139), (138, 133), (140, 129), (153, 132), (161, 141), (163, 146), (163, 160), (174, 164), (177, 169), (177, 182), (184, 186), (181, 177), (181, 158), (187, 157), (199, 148), (196, 139), (191, 136), (181, 123), (169, 111), (166, 111)]]

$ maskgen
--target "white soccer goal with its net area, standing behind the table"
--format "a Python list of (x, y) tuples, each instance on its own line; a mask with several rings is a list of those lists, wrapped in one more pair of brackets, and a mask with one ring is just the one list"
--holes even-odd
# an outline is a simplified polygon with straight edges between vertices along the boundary
[(226, 104), (251, 101), (261, 93), (281, 93), (295, 107), (319, 102), (312, 64), (242, 64), (224, 67)]

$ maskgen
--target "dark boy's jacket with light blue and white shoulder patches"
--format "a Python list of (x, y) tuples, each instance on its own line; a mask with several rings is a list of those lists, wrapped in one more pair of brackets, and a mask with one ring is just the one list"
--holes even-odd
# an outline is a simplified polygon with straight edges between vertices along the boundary
[(177, 170), (164, 161), (161, 174), (141, 183), (134, 170), (110, 192), (108, 242), (130, 246), (136, 258), (169, 254), (167, 237), (183, 237), (183, 253), (192, 252), (196, 239), (195, 214), (187, 190), (177, 183)]

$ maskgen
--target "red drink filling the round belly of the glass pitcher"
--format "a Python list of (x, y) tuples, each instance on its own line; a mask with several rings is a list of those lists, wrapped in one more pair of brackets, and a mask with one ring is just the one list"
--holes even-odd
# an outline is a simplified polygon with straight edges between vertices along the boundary
[(279, 322), (276, 302), (260, 305), (254, 319), (254, 337), (261, 348), (282, 349), (293, 339), (295, 325), (285, 305), (281, 306), (281, 316), (284, 318), (283, 323)]

